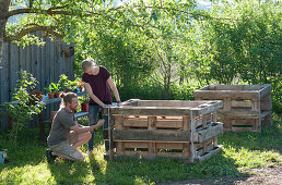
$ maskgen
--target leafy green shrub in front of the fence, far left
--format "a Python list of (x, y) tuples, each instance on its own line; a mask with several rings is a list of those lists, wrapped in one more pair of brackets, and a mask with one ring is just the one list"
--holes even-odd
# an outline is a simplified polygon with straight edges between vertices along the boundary
[(34, 114), (42, 112), (44, 102), (38, 99), (34, 102), (34, 98), (30, 96), (28, 89), (34, 89), (37, 81), (32, 74), (26, 71), (21, 71), (21, 78), (17, 81), (15, 92), (11, 102), (5, 102), (2, 106), (8, 109), (11, 118), (11, 135), (10, 138), (16, 141), (17, 132), (32, 120)]

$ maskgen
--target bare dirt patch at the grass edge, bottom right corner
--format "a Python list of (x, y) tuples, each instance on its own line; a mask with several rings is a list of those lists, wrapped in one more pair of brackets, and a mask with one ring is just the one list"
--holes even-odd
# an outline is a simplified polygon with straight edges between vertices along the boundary
[(248, 185), (248, 184), (271, 184), (282, 185), (282, 165), (272, 165), (262, 169), (250, 169), (243, 173), (249, 173), (248, 177), (236, 177), (236, 178), (221, 178), (221, 180), (186, 180), (183, 182), (167, 182), (157, 183), (158, 185), (172, 184), (172, 185), (210, 185), (210, 184), (236, 184), (236, 185)]

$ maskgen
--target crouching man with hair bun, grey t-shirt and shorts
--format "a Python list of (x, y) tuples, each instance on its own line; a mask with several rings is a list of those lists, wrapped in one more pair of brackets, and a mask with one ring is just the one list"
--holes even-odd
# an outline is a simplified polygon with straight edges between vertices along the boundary
[(75, 94), (61, 94), (61, 106), (54, 118), (51, 130), (47, 138), (49, 149), (47, 149), (47, 160), (52, 162), (56, 157), (69, 160), (84, 160), (84, 156), (77, 150), (81, 145), (92, 137), (91, 131), (102, 126), (105, 120), (99, 120), (92, 126), (79, 125), (74, 118), (74, 112), (79, 106)]

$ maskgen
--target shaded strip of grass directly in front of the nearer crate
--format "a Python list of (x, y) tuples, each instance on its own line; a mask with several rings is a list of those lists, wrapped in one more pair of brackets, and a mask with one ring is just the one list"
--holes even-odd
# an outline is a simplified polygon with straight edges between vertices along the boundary
[(184, 163), (181, 160), (168, 158), (148, 160), (120, 157), (101, 164), (92, 158), (91, 166), (95, 183), (109, 184), (150, 184), (195, 178), (212, 178), (219, 182), (222, 177), (246, 176), (237, 170), (235, 160), (223, 157), (222, 152), (199, 163)]

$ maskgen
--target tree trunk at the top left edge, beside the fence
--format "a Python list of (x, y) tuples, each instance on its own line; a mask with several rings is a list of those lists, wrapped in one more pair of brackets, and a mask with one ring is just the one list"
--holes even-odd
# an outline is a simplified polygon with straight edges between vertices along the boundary
[(8, 17), (4, 15), (9, 12), (10, 0), (0, 0), (0, 70), (2, 69), (4, 32)]

